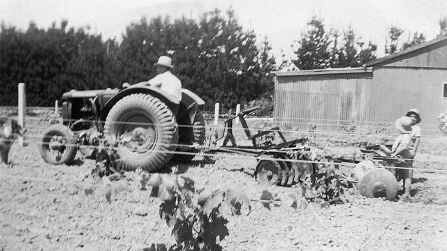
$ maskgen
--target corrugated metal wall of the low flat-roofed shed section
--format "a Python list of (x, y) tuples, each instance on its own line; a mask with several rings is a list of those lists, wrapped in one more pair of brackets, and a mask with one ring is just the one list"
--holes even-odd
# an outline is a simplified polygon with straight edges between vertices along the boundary
[(282, 126), (338, 130), (351, 121), (366, 121), (371, 79), (277, 77), (274, 118)]

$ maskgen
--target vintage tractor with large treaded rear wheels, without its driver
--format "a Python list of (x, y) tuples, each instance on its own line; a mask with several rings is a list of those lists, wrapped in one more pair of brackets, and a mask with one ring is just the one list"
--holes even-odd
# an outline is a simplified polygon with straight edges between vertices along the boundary
[(72, 162), (78, 149), (91, 155), (102, 139), (118, 142), (126, 170), (155, 172), (175, 156), (191, 160), (205, 140), (200, 107), (205, 102), (182, 89), (180, 104), (156, 87), (69, 91), (62, 96), (63, 122), (45, 130), (40, 151), (54, 165)]

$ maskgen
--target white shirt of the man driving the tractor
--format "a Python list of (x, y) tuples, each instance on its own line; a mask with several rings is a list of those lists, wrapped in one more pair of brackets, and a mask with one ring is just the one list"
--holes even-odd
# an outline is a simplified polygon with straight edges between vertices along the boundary
[(148, 82), (151, 86), (159, 87), (161, 90), (172, 95), (175, 98), (174, 102), (176, 104), (179, 104), (182, 100), (182, 82), (170, 71), (156, 75), (156, 77), (150, 79)]

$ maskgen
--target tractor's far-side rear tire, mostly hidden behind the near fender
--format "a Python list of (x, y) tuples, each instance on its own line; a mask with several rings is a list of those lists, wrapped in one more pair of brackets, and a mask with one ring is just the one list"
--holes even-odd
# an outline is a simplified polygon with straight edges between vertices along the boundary
[(196, 112), (192, 126), (191, 123), (186, 121), (184, 123), (179, 122), (179, 147), (177, 147), (177, 153), (175, 153), (173, 160), (177, 162), (189, 162), (196, 157), (200, 149), (193, 149), (190, 146), (195, 144), (203, 145), (203, 142), (205, 142), (205, 133), (205, 119), (203, 119), (200, 110)]

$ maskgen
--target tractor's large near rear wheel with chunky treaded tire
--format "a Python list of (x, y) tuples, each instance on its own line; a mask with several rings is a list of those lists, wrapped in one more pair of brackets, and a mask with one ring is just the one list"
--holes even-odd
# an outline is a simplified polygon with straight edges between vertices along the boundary
[(105, 135), (131, 140), (119, 144), (122, 168), (148, 172), (163, 168), (177, 148), (177, 121), (169, 107), (153, 96), (131, 94), (119, 100), (105, 119)]

